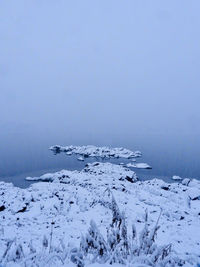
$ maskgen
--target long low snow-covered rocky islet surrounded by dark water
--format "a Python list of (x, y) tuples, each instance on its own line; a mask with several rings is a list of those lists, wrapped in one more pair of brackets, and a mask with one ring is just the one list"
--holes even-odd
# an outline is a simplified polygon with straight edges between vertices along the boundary
[[(126, 148), (117, 147), (97, 147), (97, 146), (60, 146), (55, 145), (49, 148), (55, 153), (65, 152), (67, 155), (78, 154), (83, 157), (100, 157), (100, 158), (138, 158), (141, 157), (140, 151), (131, 151)], [(70, 155), (71, 155), (70, 154)]]

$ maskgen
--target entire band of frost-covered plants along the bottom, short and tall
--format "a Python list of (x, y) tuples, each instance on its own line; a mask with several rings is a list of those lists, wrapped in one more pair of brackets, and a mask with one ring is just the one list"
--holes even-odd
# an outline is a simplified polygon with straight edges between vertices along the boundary
[[(110, 192), (110, 195), (112, 193)], [(184, 261), (171, 253), (171, 244), (156, 245), (155, 239), (159, 229), (159, 218), (154, 227), (149, 229), (148, 213), (145, 211), (145, 224), (141, 233), (137, 236), (136, 227), (128, 225), (125, 214), (121, 213), (112, 195), (110, 205), (112, 222), (107, 227), (107, 236), (99, 231), (94, 220), (91, 220), (88, 232), (82, 235), (80, 245), (72, 248), (60, 239), (59, 244), (53, 244), (53, 227), (49, 237), (43, 237), (41, 250), (38, 251), (32, 244), (28, 244), (28, 252), (23, 249), (23, 243), (16, 239), (7, 240), (6, 249), (0, 262), (4, 266), (69, 266), (72, 262), (77, 267), (99, 263), (113, 265), (132, 266), (183, 266)], [(141, 265), (142, 264), (142, 265)]]

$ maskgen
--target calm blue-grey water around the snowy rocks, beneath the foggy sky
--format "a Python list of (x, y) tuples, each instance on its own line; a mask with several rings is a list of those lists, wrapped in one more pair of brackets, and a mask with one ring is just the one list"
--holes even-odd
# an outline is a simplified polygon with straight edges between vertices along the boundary
[[(200, 143), (199, 136), (170, 135), (134, 135), (129, 138), (114, 138), (110, 140), (65, 140), (63, 138), (31, 139), (26, 135), (11, 134), (1, 139), (0, 145), (0, 180), (12, 182), (19, 187), (28, 187), (32, 182), (25, 180), (27, 176), (40, 176), (47, 172), (61, 169), (81, 170), (87, 162), (97, 159), (89, 158), (81, 162), (76, 156), (66, 156), (65, 153), (54, 155), (49, 146), (61, 145), (110, 145), (123, 146), (132, 150), (141, 150), (142, 158), (137, 162), (146, 162), (152, 170), (133, 169), (141, 180), (161, 178), (172, 181), (173, 175), (200, 178)], [(113, 163), (129, 161), (124, 159), (110, 160)]]

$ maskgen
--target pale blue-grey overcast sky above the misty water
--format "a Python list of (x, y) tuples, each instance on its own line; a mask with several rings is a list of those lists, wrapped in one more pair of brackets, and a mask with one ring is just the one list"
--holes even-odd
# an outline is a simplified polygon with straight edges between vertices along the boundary
[(199, 0), (0, 0), (1, 132), (200, 133)]

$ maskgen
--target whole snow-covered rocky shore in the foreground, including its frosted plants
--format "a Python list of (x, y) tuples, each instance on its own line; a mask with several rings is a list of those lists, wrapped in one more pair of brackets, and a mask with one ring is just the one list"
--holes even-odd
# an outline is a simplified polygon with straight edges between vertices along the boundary
[(27, 189), (0, 182), (0, 265), (197, 265), (200, 182), (135, 176), (92, 163), (46, 174), (37, 179), (49, 182)]

